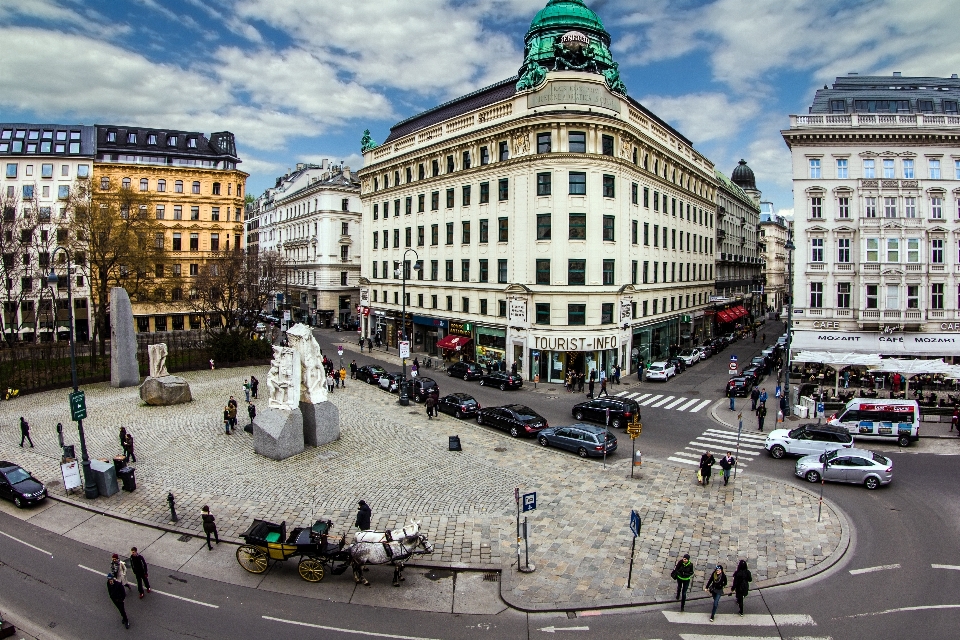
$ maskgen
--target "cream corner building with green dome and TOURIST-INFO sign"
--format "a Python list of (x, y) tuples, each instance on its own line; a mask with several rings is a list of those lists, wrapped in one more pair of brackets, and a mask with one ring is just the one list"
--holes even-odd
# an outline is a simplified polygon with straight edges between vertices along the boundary
[(704, 322), (714, 166), (629, 97), (609, 45), (581, 0), (550, 0), (518, 77), (365, 135), (362, 335), (396, 345), (404, 275), (414, 352), (541, 382), (633, 372)]

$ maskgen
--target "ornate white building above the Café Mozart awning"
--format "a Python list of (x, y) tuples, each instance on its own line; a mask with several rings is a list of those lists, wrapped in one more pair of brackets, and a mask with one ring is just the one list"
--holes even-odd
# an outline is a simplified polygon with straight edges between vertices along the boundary
[(851, 74), (790, 116), (794, 349), (960, 355), (958, 99)]

